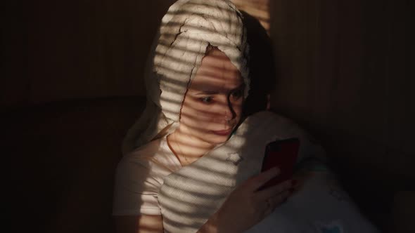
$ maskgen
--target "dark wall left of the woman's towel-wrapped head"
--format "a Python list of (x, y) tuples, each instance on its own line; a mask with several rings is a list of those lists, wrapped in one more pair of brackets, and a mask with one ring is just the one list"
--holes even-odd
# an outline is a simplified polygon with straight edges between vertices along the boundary
[(173, 1), (12, 1), (0, 104), (143, 95), (143, 69)]

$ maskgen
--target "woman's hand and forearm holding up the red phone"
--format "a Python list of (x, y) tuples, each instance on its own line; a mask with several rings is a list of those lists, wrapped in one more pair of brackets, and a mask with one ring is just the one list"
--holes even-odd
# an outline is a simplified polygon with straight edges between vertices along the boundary
[(253, 176), (239, 185), (200, 229), (200, 232), (243, 232), (264, 219), (276, 206), (286, 201), (295, 188), (293, 180), (260, 189), (262, 185), (279, 175), (278, 168), (272, 168)]

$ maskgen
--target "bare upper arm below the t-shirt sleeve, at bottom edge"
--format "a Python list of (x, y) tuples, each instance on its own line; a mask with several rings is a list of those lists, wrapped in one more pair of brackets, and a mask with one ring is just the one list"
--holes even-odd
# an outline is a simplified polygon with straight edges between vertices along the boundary
[(117, 233), (163, 232), (161, 215), (115, 216)]

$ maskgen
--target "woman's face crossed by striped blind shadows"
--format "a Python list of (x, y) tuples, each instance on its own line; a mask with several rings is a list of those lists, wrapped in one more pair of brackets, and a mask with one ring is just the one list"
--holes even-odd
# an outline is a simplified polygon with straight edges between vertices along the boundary
[(212, 145), (225, 142), (241, 120), (241, 73), (222, 51), (205, 55), (181, 107), (180, 128)]

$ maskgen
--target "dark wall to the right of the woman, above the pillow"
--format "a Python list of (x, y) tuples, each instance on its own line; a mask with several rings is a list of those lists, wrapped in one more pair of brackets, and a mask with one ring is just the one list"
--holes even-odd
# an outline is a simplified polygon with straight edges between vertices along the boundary
[(314, 132), (357, 182), (404, 189), (415, 178), (410, 4), (270, 1), (272, 108)]

